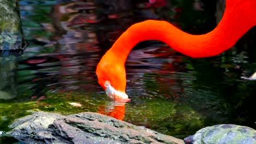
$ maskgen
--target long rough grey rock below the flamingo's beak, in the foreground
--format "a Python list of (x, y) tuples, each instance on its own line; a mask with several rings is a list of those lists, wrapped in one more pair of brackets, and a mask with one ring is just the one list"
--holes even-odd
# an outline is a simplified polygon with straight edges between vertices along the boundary
[(7, 134), (26, 143), (184, 143), (94, 112), (62, 116), (36, 112), (16, 119)]

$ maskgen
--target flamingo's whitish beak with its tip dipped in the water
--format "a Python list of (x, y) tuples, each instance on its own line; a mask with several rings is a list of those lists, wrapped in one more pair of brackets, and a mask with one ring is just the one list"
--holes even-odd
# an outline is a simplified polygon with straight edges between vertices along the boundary
[(119, 101), (121, 103), (126, 103), (127, 101), (130, 101), (128, 98), (128, 95), (126, 93), (120, 92), (115, 90), (109, 83), (108, 86), (106, 86), (106, 93), (109, 98), (113, 99), (114, 101)]

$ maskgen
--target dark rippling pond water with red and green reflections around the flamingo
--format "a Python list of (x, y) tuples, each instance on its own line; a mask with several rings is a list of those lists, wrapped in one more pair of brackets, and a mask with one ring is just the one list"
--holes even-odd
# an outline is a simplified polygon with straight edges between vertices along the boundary
[[(256, 70), (255, 28), (211, 58), (192, 59), (159, 41), (139, 43), (126, 61), (131, 101), (114, 106), (107, 98), (96, 65), (126, 28), (159, 19), (202, 34), (217, 25), (224, 10), (221, 1), (214, 7), (207, 1), (156, 2), (20, 1), (29, 46), (19, 57), (0, 59), (0, 131), (42, 110), (99, 112), (181, 139), (214, 124), (256, 129), (256, 82), (241, 79)], [(18, 141), (0, 137), (0, 142)]]

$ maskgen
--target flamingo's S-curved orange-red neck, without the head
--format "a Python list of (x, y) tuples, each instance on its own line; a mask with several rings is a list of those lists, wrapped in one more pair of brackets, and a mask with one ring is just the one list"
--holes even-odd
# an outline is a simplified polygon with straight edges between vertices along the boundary
[(136, 23), (115, 41), (107, 53), (117, 57), (117, 61), (125, 63), (131, 49), (140, 41), (159, 40), (190, 57), (219, 55), (235, 45), (243, 34), (256, 25), (256, 1), (245, 1), (226, 2), (227, 7), (222, 21), (207, 34), (191, 35), (166, 21), (148, 20)]

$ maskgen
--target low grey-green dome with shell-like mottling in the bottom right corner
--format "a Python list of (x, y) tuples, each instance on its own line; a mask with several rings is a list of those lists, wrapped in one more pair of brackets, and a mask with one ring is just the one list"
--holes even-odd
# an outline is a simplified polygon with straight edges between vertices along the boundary
[(218, 124), (202, 128), (184, 139), (186, 144), (256, 143), (256, 130), (235, 124)]

